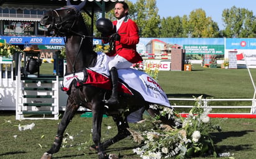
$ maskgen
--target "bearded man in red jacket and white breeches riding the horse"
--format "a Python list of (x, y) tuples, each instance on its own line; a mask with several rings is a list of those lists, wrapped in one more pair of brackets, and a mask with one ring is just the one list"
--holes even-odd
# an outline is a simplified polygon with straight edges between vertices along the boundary
[[(143, 59), (136, 51), (136, 45), (139, 43), (139, 28), (137, 24), (127, 17), (129, 7), (126, 2), (117, 2), (114, 7), (114, 15), (117, 20), (112, 22), (116, 28), (116, 33), (111, 35), (111, 39), (115, 40), (114, 49), (111, 53), (107, 53), (111, 61), (109, 62), (109, 71), (112, 81), (112, 95), (105, 103), (108, 105), (116, 105), (119, 103), (117, 99), (117, 69), (126, 69), (133, 63), (142, 62)], [(104, 41), (107, 43), (108, 41)]]

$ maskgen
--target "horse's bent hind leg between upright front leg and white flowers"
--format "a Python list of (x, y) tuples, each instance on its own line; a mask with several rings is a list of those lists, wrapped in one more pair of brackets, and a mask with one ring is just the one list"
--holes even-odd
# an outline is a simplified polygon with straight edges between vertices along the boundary
[[(124, 119), (120, 116), (112, 116), (112, 118), (113, 118), (114, 122), (116, 122), (118, 132), (117, 132), (117, 135), (115, 135), (111, 139), (103, 142), (104, 148), (107, 148), (110, 145), (112, 145), (112, 144), (118, 142), (119, 140), (122, 140), (130, 135), (130, 132), (127, 130), (127, 128), (129, 128), (129, 124), (128, 124), (126, 118)], [(95, 145), (91, 145), (90, 149), (95, 150), (96, 149)]]

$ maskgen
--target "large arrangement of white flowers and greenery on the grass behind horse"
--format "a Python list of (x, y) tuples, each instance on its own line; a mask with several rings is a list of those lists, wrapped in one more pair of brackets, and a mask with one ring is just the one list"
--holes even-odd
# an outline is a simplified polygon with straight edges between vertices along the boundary
[[(176, 126), (170, 127), (156, 118), (145, 119), (135, 129), (129, 129), (136, 142), (142, 144), (134, 152), (141, 158), (190, 158), (214, 155), (217, 157), (213, 140), (209, 132), (221, 128), (210, 121), (210, 107), (203, 107), (202, 96), (195, 98), (195, 105), (186, 118), (175, 113), (173, 109), (152, 105), (151, 108), (162, 108), (160, 116), (168, 116)], [(182, 124), (181, 124), (182, 123)], [(151, 127), (151, 129), (149, 129)]]

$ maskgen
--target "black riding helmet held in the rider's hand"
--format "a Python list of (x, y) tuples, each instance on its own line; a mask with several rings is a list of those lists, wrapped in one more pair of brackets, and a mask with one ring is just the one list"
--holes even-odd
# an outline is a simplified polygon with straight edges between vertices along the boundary
[(111, 20), (100, 18), (96, 22), (96, 28), (99, 32), (103, 33), (103, 35), (111, 35), (114, 33), (114, 25), (112, 24)]

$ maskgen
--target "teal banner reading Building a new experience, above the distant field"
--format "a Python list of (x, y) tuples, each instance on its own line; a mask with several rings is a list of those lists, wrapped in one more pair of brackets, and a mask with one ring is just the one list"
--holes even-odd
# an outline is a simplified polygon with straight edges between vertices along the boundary
[(186, 54), (224, 54), (224, 45), (183, 45)]

